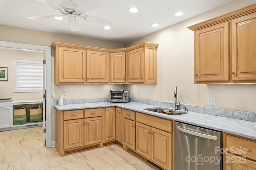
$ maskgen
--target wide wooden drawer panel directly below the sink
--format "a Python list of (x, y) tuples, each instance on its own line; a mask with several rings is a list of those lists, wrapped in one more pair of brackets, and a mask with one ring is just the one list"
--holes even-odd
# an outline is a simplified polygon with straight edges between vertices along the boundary
[(136, 112), (136, 121), (172, 133), (172, 121)]

